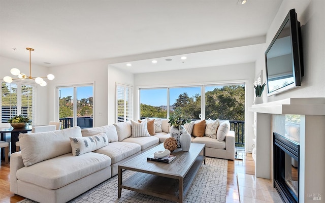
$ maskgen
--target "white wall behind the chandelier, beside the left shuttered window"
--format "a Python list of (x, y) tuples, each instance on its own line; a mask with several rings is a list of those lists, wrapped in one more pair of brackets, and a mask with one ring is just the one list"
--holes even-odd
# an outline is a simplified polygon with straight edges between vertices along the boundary
[[(12, 76), (10, 70), (16, 67), (22, 73), (29, 75), (29, 62), (23, 62), (18, 60), (13, 60), (11, 58), (6, 58), (0, 56), (0, 78), (3, 79), (5, 76)], [(31, 76), (32, 77), (43, 77), (47, 76), (48, 70), (46, 67), (41, 65), (31, 64)], [(34, 80), (25, 80), (26, 82), (30, 82), (35, 84)], [(35, 100), (37, 108), (35, 109), (35, 118), (33, 119), (34, 125), (46, 125), (48, 124), (48, 93), (47, 87), (41, 87), (37, 85), (36, 88), (36, 100)]]

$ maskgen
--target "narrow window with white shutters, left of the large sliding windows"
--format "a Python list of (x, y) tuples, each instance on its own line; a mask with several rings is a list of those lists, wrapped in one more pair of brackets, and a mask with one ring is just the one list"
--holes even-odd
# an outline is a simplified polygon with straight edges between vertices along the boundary
[(133, 88), (116, 83), (116, 122), (133, 119)]

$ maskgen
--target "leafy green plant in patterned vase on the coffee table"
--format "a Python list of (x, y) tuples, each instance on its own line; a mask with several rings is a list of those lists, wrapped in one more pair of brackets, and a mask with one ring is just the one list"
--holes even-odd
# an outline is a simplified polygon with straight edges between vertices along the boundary
[(183, 111), (181, 107), (177, 107), (169, 116), (168, 122), (172, 125), (170, 132), (171, 137), (176, 139), (177, 147), (181, 147), (180, 136), (183, 132), (186, 131), (184, 125), (191, 122), (189, 116)]

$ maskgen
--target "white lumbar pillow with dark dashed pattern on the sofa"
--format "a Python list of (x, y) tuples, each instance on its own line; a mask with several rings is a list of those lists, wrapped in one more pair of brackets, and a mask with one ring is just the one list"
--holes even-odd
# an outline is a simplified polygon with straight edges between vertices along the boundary
[(72, 155), (79, 156), (81, 154), (92, 152), (108, 145), (108, 139), (105, 132), (95, 134), (94, 136), (82, 138), (70, 138)]

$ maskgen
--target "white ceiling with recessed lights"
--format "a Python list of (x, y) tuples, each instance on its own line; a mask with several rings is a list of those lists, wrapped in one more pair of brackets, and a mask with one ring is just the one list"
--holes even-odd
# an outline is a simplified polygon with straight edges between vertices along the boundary
[(255, 61), (282, 0), (237, 1), (0, 0), (0, 56), (28, 61), (31, 47), (31, 62), (49, 67), (150, 59), (114, 64), (132, 73)]

